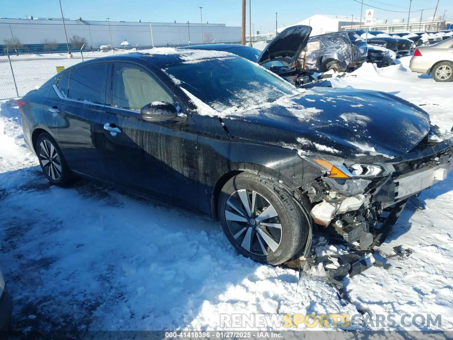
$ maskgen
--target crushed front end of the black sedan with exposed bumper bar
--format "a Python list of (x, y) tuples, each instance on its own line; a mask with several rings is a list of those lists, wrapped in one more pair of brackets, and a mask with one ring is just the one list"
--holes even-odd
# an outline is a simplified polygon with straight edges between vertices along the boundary
[(446, 179), (453, 168), (452, 146), (453, 137), (442, 140), (430, 131), (409, 153), (386, 160), (371, 161), (366, 155), (346, 160), (299, 151), (324, 171), (303, 188), (312, 204), (313, 222), (330, 227), (348, 243), (358, 242), (361, 249), (380, 245), (407, 199)]

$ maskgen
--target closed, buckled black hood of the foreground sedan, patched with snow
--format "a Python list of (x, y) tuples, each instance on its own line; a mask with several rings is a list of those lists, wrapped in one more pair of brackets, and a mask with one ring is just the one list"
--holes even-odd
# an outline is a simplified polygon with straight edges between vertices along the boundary
[(398, 157), (428, 134), (428, 113), (385, 92), (339, 88), (294, 97), (222, 117), (231, 136), (354, 158)]

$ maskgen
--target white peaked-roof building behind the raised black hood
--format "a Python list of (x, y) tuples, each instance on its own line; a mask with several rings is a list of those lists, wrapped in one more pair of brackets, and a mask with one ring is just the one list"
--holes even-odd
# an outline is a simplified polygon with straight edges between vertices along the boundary
[[(316, 14), (311, 17), (304, 19), (294, 25), (307, 25), (312, 27), (311, 35), (325, 34), (331, 32), (337, 32), (345, 25), (358, 25), (360, 24), (360, 17), (341, 16), (341, 15), (321, 15)], [(293, 26), (293, 25), (291, 25)], [(285, 27), (278, 29), (281, 32)]]

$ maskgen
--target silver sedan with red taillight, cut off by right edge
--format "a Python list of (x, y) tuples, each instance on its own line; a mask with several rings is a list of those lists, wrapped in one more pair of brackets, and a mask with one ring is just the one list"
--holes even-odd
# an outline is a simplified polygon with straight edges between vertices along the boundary
[(453, 81), (453, 37), (417, 47), (409, 68), (413, 72), (431, 74), (436, 82)]

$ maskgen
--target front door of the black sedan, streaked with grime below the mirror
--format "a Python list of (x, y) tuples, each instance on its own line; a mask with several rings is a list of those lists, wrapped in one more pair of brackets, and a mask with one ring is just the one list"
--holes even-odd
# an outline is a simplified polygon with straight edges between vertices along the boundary
[[(162, 99), (168, 101), (171, 100), (166, 97), (169, 95), (161, 92), (162, 88), (156, 89), (155, 84), (152, 88), (140, 85), (151, 77), (145, 68), (118, 63), (114, 65), (113, 72), (113, 81), (116, 82), (120, 73), (123, 83), (120, 91), (116, 87), (111, 91), (115, 106), (106, 105), (102, 118), (103, 126), (108, 124), (120, 131), (103, 130), (108, 180), (198, 209), (197, 133), (192, 118), (178, 117), (168, 122), (144, 121), (139, 110), (124, 107), (137, 108)], [(155, 92), (159, 93), (156, 95)]]

